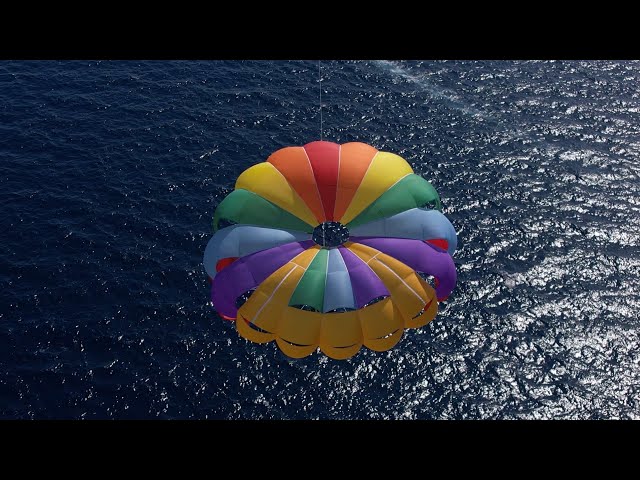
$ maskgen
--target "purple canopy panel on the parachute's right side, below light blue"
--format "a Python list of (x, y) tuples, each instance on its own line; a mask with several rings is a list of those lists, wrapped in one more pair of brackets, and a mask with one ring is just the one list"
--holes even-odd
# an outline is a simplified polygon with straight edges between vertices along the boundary
[(362, 243), (409, 265), (416, 271), (433, 275), (438, 279), (438, 300), (447, 298), (456, 286), (456, 266), (444, 250), (421, 240), (408, 238), (351, 237), (352, 242)]

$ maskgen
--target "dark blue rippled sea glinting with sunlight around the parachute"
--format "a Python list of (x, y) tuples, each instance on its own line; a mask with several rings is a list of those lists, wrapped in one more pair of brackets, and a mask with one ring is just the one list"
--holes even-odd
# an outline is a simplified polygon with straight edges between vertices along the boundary
[(640, 63), (323, 61), (323, 134), (403, 156), (458, 286), (391, 351), (212, 309), (218, 203), (320, 136), (317, 62), (0, 62), (0, 418), (640, 418)]

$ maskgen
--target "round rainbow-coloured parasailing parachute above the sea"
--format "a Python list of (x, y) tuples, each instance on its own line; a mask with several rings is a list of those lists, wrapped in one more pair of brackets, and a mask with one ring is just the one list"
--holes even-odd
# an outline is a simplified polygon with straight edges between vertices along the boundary
[(440, 210), (393, 153), (323, 141), (278, 150), (216, 209), (212, 303), (242, 337), (290, 357), (388, 350), (455, 287), (457, 237)]

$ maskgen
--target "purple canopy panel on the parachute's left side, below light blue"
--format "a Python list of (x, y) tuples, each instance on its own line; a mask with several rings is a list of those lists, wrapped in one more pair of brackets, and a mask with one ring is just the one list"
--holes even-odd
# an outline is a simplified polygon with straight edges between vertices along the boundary
[(260, 285), (273, 272), (313, 245), (312, 240), (293, 242), (242, 257), (224, 268), (213, 279), (211, 301), (226, 317), (238, 314), (236, 299)]

